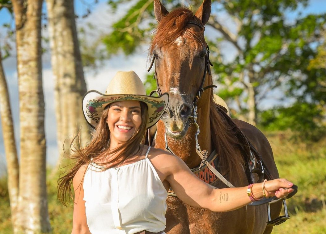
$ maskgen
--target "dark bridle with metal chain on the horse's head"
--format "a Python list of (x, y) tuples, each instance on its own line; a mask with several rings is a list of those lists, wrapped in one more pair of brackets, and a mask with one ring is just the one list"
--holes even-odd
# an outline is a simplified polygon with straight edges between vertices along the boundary
[[(196, 23), (196, 22), (193, 22), (193, 21), (188, 21), (187, 23), (197, 25), (198, 27), (200, 27), (200, 30), (202, 30), (203, 32), (205, 31), (205, 27), (202, 24), (199, 24), (199, 23)], [(216, 88), (216, 85), (208, 85), (206, 87), (203, 87), (204, 86), (204, 82), (205, 82), (205, 78), (206, 78), (206, 74), (208, 73), (211, 76), (211, 68), (210, 68), (210, 65), (213, 66), (213, 64), (211, 63), (211, 61), (209, 59), (209, 52), (210, 51), (209, 51), (208, 45), (206, 46), (206, 51), (207, 51), (207, 53), (205, 55), (205, 69), (204, 69), (204, 74), (203, 74), (203, 76), (201, 78), (200, 87), (199, 87), (199, 89), (198, 89), (198, 91), (196, 93), (196, 96), (195, 96), (194, 100), (192, 101), (193, 114), (189, 117), (191, 119), (191, 123), (195, 124), (195, 126), (197, 127), (197, 132), (196, 132), (196, 135), (195, 135), (195, 139), (196, 139), (196, 152), (200, 156), (200, 158), (202, 159), (202, 161), (200, 163), (200, 167), (204, 164), (205, 160), (207, 159), (207, 157), (208, 157), (208, 151), (207, 150), (203, 150), (202, 151), (200, 149), (200, 146), (199, 146), (199, 143), (198, 143), (198, 135), (200, 133), (200, 129), (199, 129), (199, 125), (197, 123), (197, 102), (200, 99), (202, 93), (206, 89)], [(155, 56), (153, 56), (151, 65), (149, 66), (147, 72), (149, 72), (152, 69), (154, 62), (155, 62)], [(155, 73), (154, 73), (154, 79), (156, 80), (157, 89), (154, 90), (154, 91), (152, 91), (151, 94), (150, 94), (150, 96), (152, 96), (152, 94), (155, 93), (155, 92), (157, 93), (158, 96), (161, 96), (162, 95), (162, 91), (161, 91), (161, 89), (159, 87), (159, 84), (158, 84), (156, 68), (155, 68)], [(165, 132), (165, 148), (168, 151), (170, 151), (171, 153), (173, 153), (172, 150), (168, 146), (168, 140), (167, 140), (167, 133), (166, 132)]]

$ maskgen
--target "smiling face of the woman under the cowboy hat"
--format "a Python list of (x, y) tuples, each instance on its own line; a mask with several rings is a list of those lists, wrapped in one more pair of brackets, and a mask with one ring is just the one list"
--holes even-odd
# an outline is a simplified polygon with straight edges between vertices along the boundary
[(123, 144), (137, 132), (141, 125), (141, 105), (138, 101), (112, 103), (108, 112), (111, 144)]

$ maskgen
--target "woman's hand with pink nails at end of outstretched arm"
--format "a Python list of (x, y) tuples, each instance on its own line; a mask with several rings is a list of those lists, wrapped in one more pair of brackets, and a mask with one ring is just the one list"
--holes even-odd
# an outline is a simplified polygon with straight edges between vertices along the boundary
[(290, 188), (292, 186), (293, 183), (287, 179), (274, 179), (266, 181), (264, 188), (268, 197), (276, 196), (277, 198), (285, 198), (289, 193), (294, 191), (294, 189)]

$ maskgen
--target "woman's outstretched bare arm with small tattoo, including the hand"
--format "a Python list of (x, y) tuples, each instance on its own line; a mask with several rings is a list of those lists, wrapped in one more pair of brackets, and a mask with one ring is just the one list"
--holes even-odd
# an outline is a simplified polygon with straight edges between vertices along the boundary
[[(238, 209), (251, 202), (246, 187), (215, 188), (195, 176), (187, 165), (178, 157), (166, 154), (164, 162), (165, 180), (168, 181), (175, 194), (185, 203), (210, 209), (214, 212), (226, 212)], [(293, 184), (286, 179), (275, 179), (265, 183), (267, 196), (283, 198), (293, 191)], [(289, 188), (289, 189), (284, 189)], [(254, 184), (252, 194), (256, 198), (263, 197), (262, 183)]]

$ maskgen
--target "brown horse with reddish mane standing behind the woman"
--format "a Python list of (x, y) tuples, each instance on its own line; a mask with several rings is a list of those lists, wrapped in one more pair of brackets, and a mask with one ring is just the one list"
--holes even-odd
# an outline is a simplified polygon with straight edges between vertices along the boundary
[[(261, 161), (268, 166), (270, 177), (278, 178), (272, 149), (266, 137), (244, 121), (234, 119), (234, 125), (213, 102), (213, 90), (209, 89), (213, 85), (209, 51), (203, 35), (204, 25), (210, 17), (211, 1), (204, 0), (195, 14), (186, 8), (178, 8), (169, 13), (159, 0), (154, 0), (154, 10), (159, 24), (150, 54), (156, 60), (157, 92), (168, 92), (170, 95), (167, 111), (157, 125), (155, 147), (165, 149), (168, 146), (189, 168), (198, 167), (201, 162), (195, 150), (195, 134), (198, 129), (194, 118), (191, 118), (197, 114), (200, 129), (198, 144), (208, 154), (216, 151), (217, 157), (211, 164), (231, 184), (249, 184), (250, 177), (244, 170), (248, 167), (247, 161), (250, 158), (248, 141), (263, 156)], [(257, 160), (254, 164), (257, 164)], [(202, 180), (213, 182), (216, 187), (225, 187), (208, 168), (199, 171), (197, 170), (197, 175)], [(167, 204), (165, 231), (168, 234), (261, 234), (272, 231), (272, 227), (267, 227), (266, 224), (267, 204), (245, 206), (226, 213), (194, 208), (175, 196), (168, 196)], [(279, 215), (281, 206), (280, 202), (272, 204), (272, 219)]]

